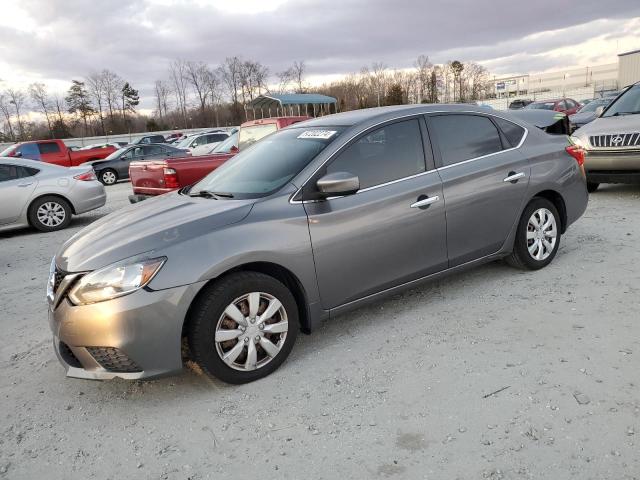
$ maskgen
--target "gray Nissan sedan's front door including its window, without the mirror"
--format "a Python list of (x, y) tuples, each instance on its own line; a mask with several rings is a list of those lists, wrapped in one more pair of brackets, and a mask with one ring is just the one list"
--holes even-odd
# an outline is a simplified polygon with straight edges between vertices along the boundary
[(422, 119), (362, 134), (310, 182), (334, 172), (357, 175), (360, 190), (304, 203), (325, 309), (446, 268), (442, 184)]

